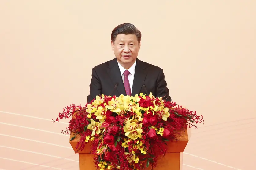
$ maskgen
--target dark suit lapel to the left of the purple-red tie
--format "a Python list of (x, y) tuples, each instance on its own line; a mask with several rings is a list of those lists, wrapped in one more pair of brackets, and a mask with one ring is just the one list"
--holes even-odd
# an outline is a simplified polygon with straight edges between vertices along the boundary
[(118, 84), (117, 91), (118, 91), (119, 95), (121, 95), (121, 94), (126, 95), (123, 79), (122, 79), (116, 58), (109, 61), (108, 73), (109, 73), (110, 79), (113, 82), (113, 88), (114, 88), (115, 84)]

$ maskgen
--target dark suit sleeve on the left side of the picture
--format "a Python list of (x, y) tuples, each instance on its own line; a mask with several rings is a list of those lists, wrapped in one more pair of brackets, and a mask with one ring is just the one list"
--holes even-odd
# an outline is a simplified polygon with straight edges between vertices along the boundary
[(87, 103), (90, 103), (97, 95), (102, 94), (102, 85), (95, 69), (93, 68), (91, 72), (90, 94), (87, 96)]

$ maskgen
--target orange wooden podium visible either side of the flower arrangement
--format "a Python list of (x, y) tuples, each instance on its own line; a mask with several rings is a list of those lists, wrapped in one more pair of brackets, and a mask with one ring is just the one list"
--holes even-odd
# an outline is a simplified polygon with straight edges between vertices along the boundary
[[(80, 139), (79, 135), (76, 135), (75, 139), (70, 141), (74, 135), (71, 134), (69, 143), (74, 151), (76, 151), (76, 144)], [(167, 154), (159, 158), (157, 167), (154, 170), (182, 170), (183, 152), (187, 146), (187, 142), (191, 136), (190, 129), (184, 129), (177, 137), (178, 141), (168, 141)], [(80, 170), (96, 170), (93, 162), (93, 154), (90, 154), (91, 144), (87, 143), (83, 151), (78, 151), (79, 154), (79, 169)], [(146, 166), (145, 166), (146, 167)], [(151, 170), (151, 165), (146, 170)]]

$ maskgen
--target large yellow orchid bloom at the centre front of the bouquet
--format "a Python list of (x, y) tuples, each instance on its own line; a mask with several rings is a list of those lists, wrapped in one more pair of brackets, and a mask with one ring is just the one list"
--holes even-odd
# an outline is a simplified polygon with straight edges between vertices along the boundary
[(138, 124), (136, 119), (130, 119), (124, 126), (125, 136), (133, 140), (140, 138), (143, 132), (142, 123)]

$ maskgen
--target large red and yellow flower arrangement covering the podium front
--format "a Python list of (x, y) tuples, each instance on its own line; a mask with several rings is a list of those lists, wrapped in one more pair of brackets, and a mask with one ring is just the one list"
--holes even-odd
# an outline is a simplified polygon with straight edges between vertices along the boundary
[[(75, 113), (75, 114), (74, 114)], [(56, 120), (71, 118), (62, 133), (80, 135), (77, 151), (92, 143), (95, 166), (104, 169), (142, 170), (156, 167), (166, 153), (166, 142), (176, 140), (187, 126), (204, 123), (195, 112), (149, 95), (96, 96), (94, 101), (67, 106)], [(195, 126), (196, 127), (196, 126)]]

